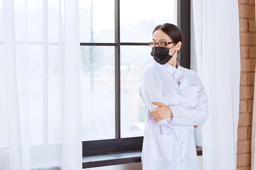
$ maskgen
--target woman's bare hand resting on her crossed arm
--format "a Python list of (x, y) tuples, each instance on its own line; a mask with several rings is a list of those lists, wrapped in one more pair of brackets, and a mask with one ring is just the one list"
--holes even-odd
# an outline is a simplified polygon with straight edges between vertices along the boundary
[(172, 117), (171, 108), (160, 102), (152, 102), (152, 104), (159, 106), (150, 112), (155, 121), (160, 121)]

